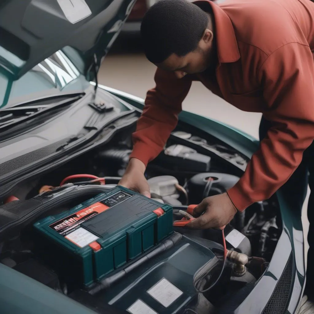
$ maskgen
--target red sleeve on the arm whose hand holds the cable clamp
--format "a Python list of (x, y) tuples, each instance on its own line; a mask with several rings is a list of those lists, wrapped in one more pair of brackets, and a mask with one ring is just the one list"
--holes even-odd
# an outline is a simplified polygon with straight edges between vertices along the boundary
[(229, 197), (242, 211), (271, 197), (300, 165), (314, 139), (314, 62), (308, 46), (289, 43), (274, 51), (257, 72), (272, 123)]

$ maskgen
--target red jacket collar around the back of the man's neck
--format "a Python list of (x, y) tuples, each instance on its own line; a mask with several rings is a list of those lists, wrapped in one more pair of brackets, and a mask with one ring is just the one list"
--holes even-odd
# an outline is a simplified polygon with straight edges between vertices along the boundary
[(240, 52), (236, 41), (236, 34), (229, 16), (222, 8), (212, 1), (199, 0), (193, 3), (203, 9), (206, 8), (206, 5), (210, 5), (213, 10), (215, 20), (214, 35), (216, 35), (219, 63), (238, 61), (240, 59)]

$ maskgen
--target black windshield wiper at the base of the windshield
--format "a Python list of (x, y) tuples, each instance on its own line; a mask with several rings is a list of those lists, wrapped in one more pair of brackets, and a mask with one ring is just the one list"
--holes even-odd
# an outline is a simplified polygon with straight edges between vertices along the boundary
[(23, 104), (20, 106), (15, 106), (11, 108), (2, 109), (0, 111), (0, 131), (3, 129), (11, 128), (16, 124), (33, 119), (37, 116), (43, 115), (49, 111), (60, 109), (62, 107), (68, 106), (73, 102), (81, 99), (84, 94), (79, 94), (65, 100), (47, 104)]

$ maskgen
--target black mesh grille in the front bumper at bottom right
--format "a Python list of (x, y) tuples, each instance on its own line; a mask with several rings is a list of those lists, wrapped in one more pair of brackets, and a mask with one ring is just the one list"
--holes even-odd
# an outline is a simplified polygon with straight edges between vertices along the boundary
[(263, 314), (284, 314), (290, 298), (293, 279), (293, 258), (292, 254), (288, 259), (284, 272), (282, 273), (273, 295), (269, 299)]

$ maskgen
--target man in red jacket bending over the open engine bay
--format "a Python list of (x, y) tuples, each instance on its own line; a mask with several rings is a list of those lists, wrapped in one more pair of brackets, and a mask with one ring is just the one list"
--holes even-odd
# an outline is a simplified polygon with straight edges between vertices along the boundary
[[(149, 196), (144, 171), (176, 127), (192, 81), (243, 111), (261, 112), (260, 148), (238, 183), (205, 198), (191, 228), (222, 228), (280, 187), (300, 211), (314, 187), (314, 3), (311, 0), (161, 0), (141, 26), (157, 66), (120, 184)], [(287, 183), (286, 183), (287, 182)], [(307, 294), (314, 288), (314, 198), (308, 204)]]

